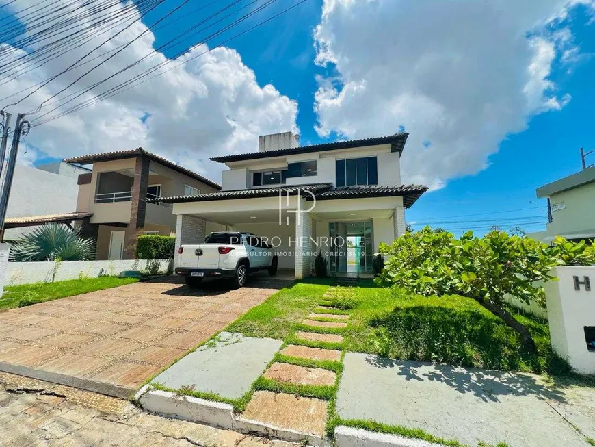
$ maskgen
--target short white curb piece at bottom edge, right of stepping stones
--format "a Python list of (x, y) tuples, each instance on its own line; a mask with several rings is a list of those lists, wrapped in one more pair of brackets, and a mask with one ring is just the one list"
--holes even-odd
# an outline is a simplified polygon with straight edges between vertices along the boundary
[(334, 437), (338, 447), (444, 447), (443, 444), (427, 442), (423, 439), (375, 433), (344, 425), (334, 429)]

